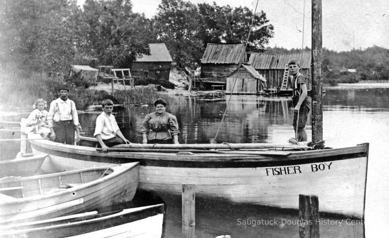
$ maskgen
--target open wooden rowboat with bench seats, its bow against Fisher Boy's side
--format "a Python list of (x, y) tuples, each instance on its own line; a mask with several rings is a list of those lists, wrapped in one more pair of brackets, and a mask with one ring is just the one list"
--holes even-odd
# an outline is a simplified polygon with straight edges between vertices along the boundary
[(131, 201), (139, 163), (0, 179), (0, 223), (48, 219)]

